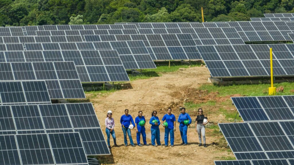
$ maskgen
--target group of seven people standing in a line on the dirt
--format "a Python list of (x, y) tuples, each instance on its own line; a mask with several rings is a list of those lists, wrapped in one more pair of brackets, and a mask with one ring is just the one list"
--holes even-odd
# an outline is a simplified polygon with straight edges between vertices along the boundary
[[(181, 145), (186, 146), (188, 144), (187, 141), (187, 130), (188, 126), (191, 124), (192, 119), (189, 116), (188, 113), (186, 113), (186, 109), (184, 107), (180, 108), (181, 114), (178, 117), (178, 122), (179, 122), (179, 130), (181, 133), (181, 138), (182, 138), (182, 143)], [(151, 144), (154, 147), (157, 147), (158, 145), (161, 145), (160, 142), (160, 131), (159, 131), (159, 125), (162, 125), (165, 128), (165, 133), (164, 133), (164, 143), (165, 147), (168, 147), (168, 137), (170, 136), (170, 144), (171, 147), (174, 146), (174, 132), (176, 131), (176, 117), (171, 113), (171, 108), (167, 109), (167, 114), (163, 116), (161, 119), (161, 122), (159, 118), (156, 116), (157, 112), (153, 111), (152, 112), (152, 117), (150, 118), (149, 124), (151, 124)], [(138, 146), (142, 147), (143, 145), (149, 146), (146, 142), (146, 129), (145, 129), (145, 124), (146, 124), (146, 119), (143, 116), (143, 112), (139, 111), (138, 116), (135, 118), (135, 122), (133, 120), (133, 117), (128, 114), (128, 109), (125, 110), (125, 114), (121, 116), (121, 128), (123, 130), (123, 137), (124, 137), (124, 144), (127, 147), (128, 146), (128, 141), (127, 141), (127, 134), (131, 143), (132, 147), (136, 147), (133, 138), (131, 135), (131, 129), (136, 129), (137, 133), (137, 144)], [(202, 146), (202, 139), (203, 139), (203, 146), (206, 146), (206, 140), (205, 140), (205, 125), (208, 123), (208, 119), (205, 115), (203, 115), (203, 110), (202, 108), (198, 109), (198, 115), (196, 117), (196, 122), (195, 122), (195, 129), (196, 132), (198, 133), (198, 138), (199, 138), (199, 145)], [(109, 149), (111, 149), (110, 146), (110, 135), (113, 137), (113, 142), (114, 146), (117, 147), (118, 145), (116, 144), (116, 136), (114, 132), (114, 119), (112, 118), (112, 112), (108, 111), (107, 112), (107, 117), (105, 119), (105, 126), (106, 126), (106, 134), (107, 134), (107, 144)], [(142, 135), (143, 139), (143, 144), (140, 142)], [(202, 139), (201, 139), (202, 137)], [(155, 143), (156, 141), (156, 143)], [(156, 145), (157, 144), (157, 145)]]

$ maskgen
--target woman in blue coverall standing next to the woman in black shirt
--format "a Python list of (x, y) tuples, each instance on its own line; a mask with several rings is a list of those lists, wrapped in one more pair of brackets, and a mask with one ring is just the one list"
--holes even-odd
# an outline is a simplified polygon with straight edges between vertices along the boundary
[[(180, 123), (180, 127), (179, 127), (180, 128), (180, 133), (181, 133), (181, 137), (182, 137), (181, 145), (186, 146), (188, 144), (188, 141), (187, 141), (188, 125), (191, 124), (192, 119), (189, 116), (189, 114), (186, 113), (186, 109), (184, 107), (181, 108), (181, 112), (182, 113), (179, 115), (179, 118), (178, 118), (178, 122)], [(189, 120), (187, 125), (184, 122), (185, 120)]]

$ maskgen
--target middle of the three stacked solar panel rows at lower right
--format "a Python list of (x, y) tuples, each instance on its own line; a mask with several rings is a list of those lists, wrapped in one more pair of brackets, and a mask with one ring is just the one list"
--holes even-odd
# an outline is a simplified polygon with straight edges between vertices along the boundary
[(294, 158), (294, 121), (219, 123), (218, 126), (237, 160)]

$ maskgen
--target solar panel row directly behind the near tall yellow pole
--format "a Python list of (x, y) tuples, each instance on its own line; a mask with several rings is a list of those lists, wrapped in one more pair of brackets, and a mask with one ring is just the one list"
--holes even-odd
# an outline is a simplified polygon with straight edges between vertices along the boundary
[(212, 77), (270, 76), (270, 48), (273, 74), (294, 75), (294, 44), (197, 46)]

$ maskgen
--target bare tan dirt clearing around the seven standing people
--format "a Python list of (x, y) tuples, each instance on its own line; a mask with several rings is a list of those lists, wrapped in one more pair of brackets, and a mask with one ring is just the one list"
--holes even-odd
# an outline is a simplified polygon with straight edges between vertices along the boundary
[[(217, 93), (208, 93), (197, 88), (203, 84), (208, 84), (209, 71), (205, 67), (193, 67), (186, 70), (179, 70), (171, 73), (164, 73), (161, 77), (153, 77), (150, 79), (135, 80), (130, 83), (130, 87), (125, 90), (118, 90), (109, 95), (98, 95), (91, 98), (101, 127), (104, 132), (104, 119), (108, 110), (112, 110), (113, 118), (116, 122), (115, 132), (117, 144), (119, 147), (112, 147), (111, 156), (100, 156), (103, 164), (214, 164), (214, 160), (220, 160), (225, 157), (233, 157), (233, 153), (227, 148), (218, 146), (220, 136), (207, 136), (207, 148), (198, 147), (198, 134), (195, 131), (195, 123), (192, 122), (188, 128), (188, 143), (187, 146), (181, 146), (181, 135), (178, 129), (175, 132), (175, 147), (170, 146), (143, 146), (131, 147), (128, 141), (128, 147), (124, 147), (123, 132), (119, 123), (121, 115), (124, 114), (124, 109), (129, 109), (129, 114), (133, 119), (138, 115), (138, 111), (143, 111), (143, 115), (148, 119), (151, 117), (151, 112), (157, 110), (158, 117), (161, 119), (166, 114), (167, 107), (172, 107), (172, 113), (176, 115), (176, 119), (180, 114), (179, 107), (183, 106), (184, 100), (187, 98), (194, 103), (206, 102), (208, 100), (216, 100), (223, 102), (230, 96), (222, 98), (217, 97)], [(141, 100), (139, 100), (141, 99)], [(228, 108), (234, 108), (233, 106)], [(205, 109), (204, 113), (205, 113)], [(196, 110), (186, 110), (195, 121)], [(224, 117), (222, 115), (208, 115), (211, 123), (221, 122)], [(160, 131), (163, 133), (164, 128), (160, 126)], [(132, 130), (133, 141), (136, 144), (136, 131)], [(151, 144), (150, 126), (146, 124), (147, 143)], [(161, 134), (163, 139), (163, 134)], [(142, 139), (141, 139), (142, 140)], [(161, 140), (164, 145), (164, 140)], [(111, 138), (111, 145), (113, 140)]]

